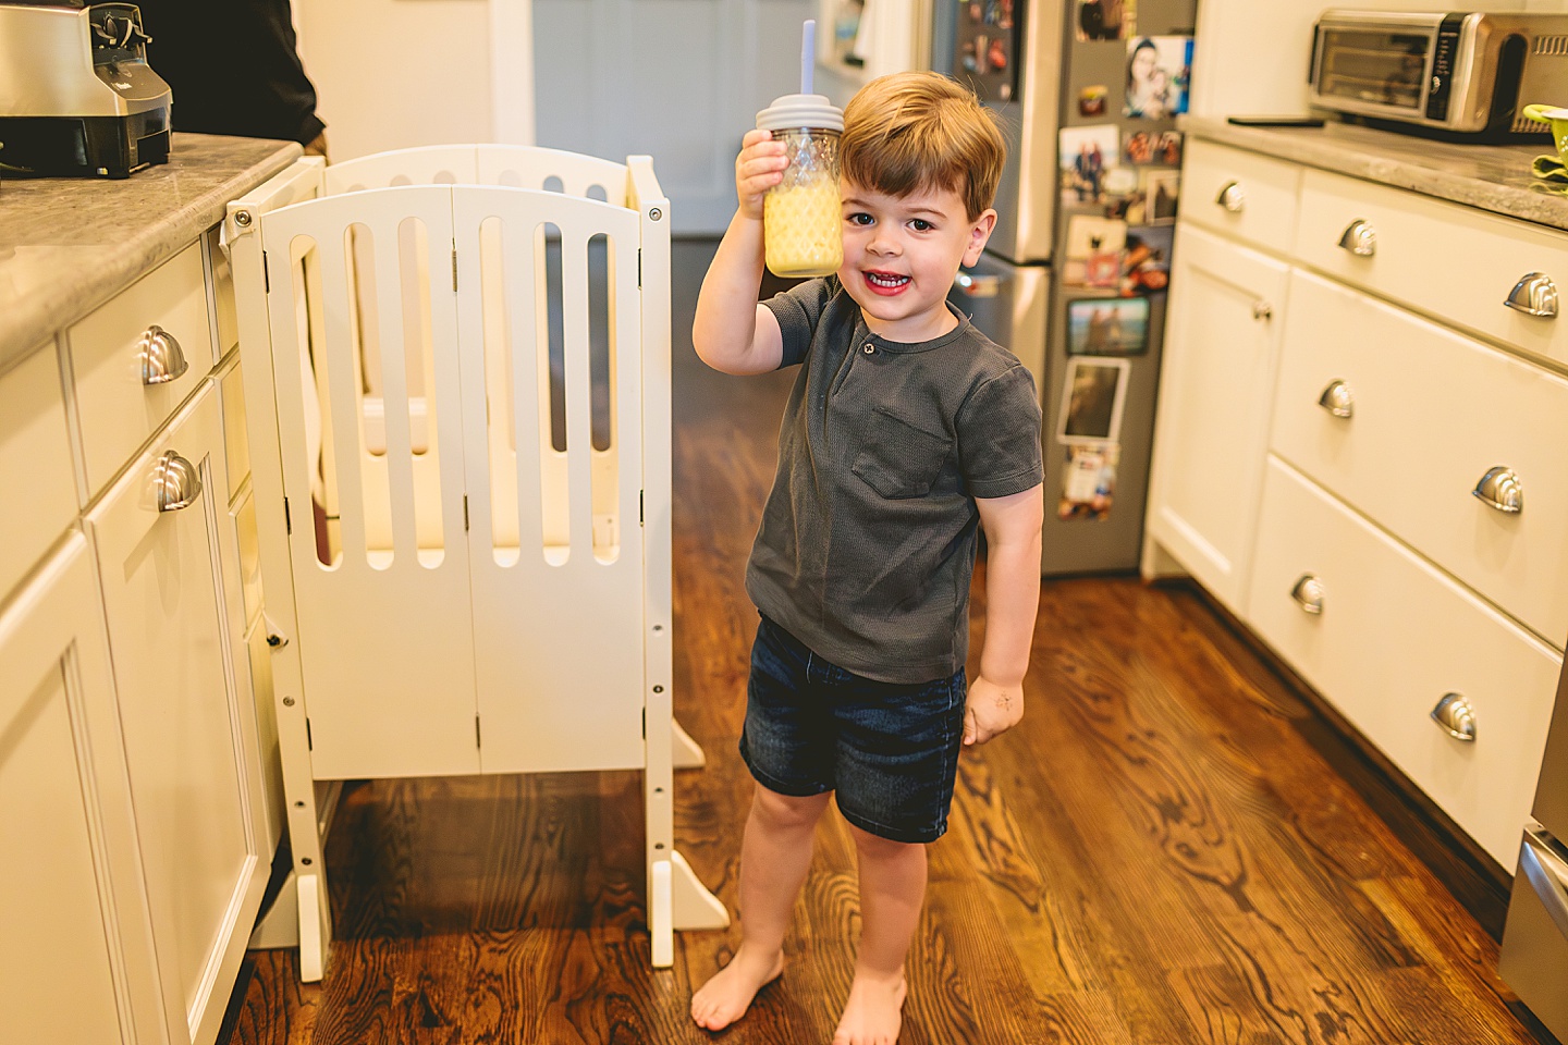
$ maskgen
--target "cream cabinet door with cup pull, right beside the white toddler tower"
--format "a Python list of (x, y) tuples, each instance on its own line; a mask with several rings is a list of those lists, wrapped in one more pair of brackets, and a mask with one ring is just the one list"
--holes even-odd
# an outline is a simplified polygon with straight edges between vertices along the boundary
[(88, 517), (176, 1045), (216, 1036), (268, 874), (256, 714), (224, 620), (226, 489), (209, 384)]

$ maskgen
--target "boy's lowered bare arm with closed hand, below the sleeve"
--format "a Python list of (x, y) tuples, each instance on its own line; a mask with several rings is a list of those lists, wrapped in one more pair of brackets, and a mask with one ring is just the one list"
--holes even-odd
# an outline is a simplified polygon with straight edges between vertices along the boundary
[(1024, 674), (1040, 609), (1043, 484), (1021, 494), (975, 498), (985, 526), (985, 645), (969, 686), (964, 744), (983, 744), (1024, 718)]

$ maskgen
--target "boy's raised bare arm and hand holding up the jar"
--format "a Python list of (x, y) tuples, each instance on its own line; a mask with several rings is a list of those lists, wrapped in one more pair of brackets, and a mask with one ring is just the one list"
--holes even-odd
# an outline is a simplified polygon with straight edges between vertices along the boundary
[(784, 337), (773, 312), (757, 304), (762, 287), (762, 197), (784, 179), (782, 143), (746, 132), (735, 157), (740, 205), (702, 277), (691, 321), (691, 346), (713, 370), (759, 374), (778, 370)]

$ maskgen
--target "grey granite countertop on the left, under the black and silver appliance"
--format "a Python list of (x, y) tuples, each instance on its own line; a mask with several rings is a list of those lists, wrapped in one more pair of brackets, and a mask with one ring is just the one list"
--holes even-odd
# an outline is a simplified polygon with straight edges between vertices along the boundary
[(0, 371), (218, 224), (301, 155), (292, 141), (174, 135), (125, 180), (0, 182)]

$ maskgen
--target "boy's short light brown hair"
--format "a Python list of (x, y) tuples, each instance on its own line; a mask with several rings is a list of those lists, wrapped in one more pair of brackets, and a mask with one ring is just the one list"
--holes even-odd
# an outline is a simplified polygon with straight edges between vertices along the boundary
[(898, 197), (950, 190), (971, 221), (991, 207), (1005, 158), (997, 116), (936, 72), (878, 77), (844, 110), (845, 179)]

